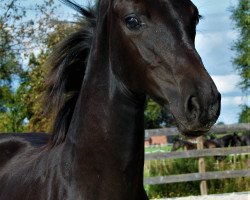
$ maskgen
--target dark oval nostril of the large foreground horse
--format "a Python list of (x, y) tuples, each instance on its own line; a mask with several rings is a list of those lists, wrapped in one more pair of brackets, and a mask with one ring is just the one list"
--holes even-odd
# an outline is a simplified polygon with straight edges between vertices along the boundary
[(186, 113), (189, 119), (195, 120), (198, 118), (200, 106), (197, 97), (190, 96), (186, 103)]

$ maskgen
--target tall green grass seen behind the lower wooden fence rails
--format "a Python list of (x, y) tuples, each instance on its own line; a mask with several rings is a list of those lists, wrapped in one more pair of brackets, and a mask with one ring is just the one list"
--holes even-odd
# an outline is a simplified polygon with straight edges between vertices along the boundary
[[(218, 163), (212, 157), (206, 158), (206, 170), (223, 171), (247, 169), (247, 159), (245, 156), (238, 156), (237, 161), (234, 162), (232, 156), (227, 156), (225, 160)], [(196, 173), (198, 172), (198, 160), (189, 158), (146, 161), (144, 168), (145, 177)], [(250, 191), (250, 177), (209, 180), (207, 184), (209, 194)], [(145, 188), (150, 198), (200, 195), (199, 181), (145, 185)]]

